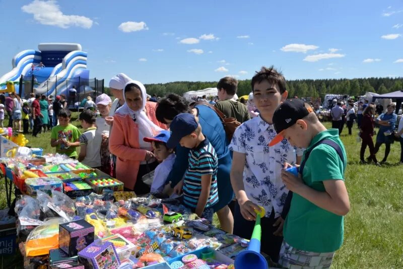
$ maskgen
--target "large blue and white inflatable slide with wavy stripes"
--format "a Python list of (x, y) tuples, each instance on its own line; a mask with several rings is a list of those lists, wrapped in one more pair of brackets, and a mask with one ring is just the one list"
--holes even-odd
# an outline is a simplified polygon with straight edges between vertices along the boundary
[(21, 75), (34, 75), (38, 83), (34, 86), (35, 93), (54, 96), (56, 92), (66, 94), (78, 78), (88, 80), (90, 75), (87, 52), (76, 43), (41, 43), (38, 50), (24, 50), (15, 55), (12, 65), (13, 69), (0, 77), (0, 89), (5, 89), (7, 81), (19, 82)]

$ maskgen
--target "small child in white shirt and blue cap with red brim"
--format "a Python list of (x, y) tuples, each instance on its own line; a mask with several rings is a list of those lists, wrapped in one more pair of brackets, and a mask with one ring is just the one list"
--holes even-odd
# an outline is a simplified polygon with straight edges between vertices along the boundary
[[(173, 149), (167, 148), (167, 141), (171, 136), (167, 130), (162, 130), (154, 138), (144, 138), (145, 142), (153, 145), (155, 158), (161, 162), (154, 171), (154, 180), (151, 184), (151, 193), (166, 195), (164, 187), (169, 182), (165, 182), (169, 172), (172, 170), (172, 165), (175, 162), (175, 153)], [(169, 184), (168, 184), (169, 185)]]

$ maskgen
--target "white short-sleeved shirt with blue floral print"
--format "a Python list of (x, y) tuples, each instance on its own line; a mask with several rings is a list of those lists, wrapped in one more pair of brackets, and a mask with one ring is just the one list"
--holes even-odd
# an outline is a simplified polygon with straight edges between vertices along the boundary
[(286, 139), (269, 147), (276, 135), (274, 126), (259, 115), (235, 130), (229, 149), (245, 154), (243, 184), (249, 200), (262, 206), (266, 217), (274, 208), (277, 218), (283, 211), (288, 194), (281, 180), (281, 170), (286, 162), (295, 165), (296, 156), (302, 156), (303, 150), (291, 146)]

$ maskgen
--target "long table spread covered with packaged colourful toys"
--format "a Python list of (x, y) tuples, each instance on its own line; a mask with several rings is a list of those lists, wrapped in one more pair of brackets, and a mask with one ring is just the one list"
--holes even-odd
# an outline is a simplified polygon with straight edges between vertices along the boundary
[[(137, 197), (122, 191), (120, 181), (66, 156), (0, 163), (14, 172), (8, 178), (23, 193), (36, 193), (18, 196), (14, 209), (25, 267), (118, 268), (121, 262), (127, 269), (228, 269), (231, 262), (221, 256), (240, 255), (249, 243), (199, 219), (178, 199)], [(206, 246), (214, 251), (197, 252)]]

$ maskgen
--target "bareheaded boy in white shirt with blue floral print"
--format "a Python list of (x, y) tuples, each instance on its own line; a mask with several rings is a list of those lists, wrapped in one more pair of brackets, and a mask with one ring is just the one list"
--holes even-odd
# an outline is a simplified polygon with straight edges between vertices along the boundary
[[(262, 206), (261, 251), (275, 262), (279, 259), (282, 229), (281, 218), (288, 190), (281, 180), (285, 163), (297, 163), (296, 150), (287, 140), (274, 147), (268, 144), (277, 133), (272, 124), (273, 113), (287, 99), (286, 81), (276, 69), (261, 68), (251, 82), (253, 100), (259, 116), (240, 125), (232, 138), (231, 183), (238, 204), (234, 213), (234, 234), (249, 239), (255, 223), (255, 209)], [(298, 158), (300, 160), (300, 158)]]

